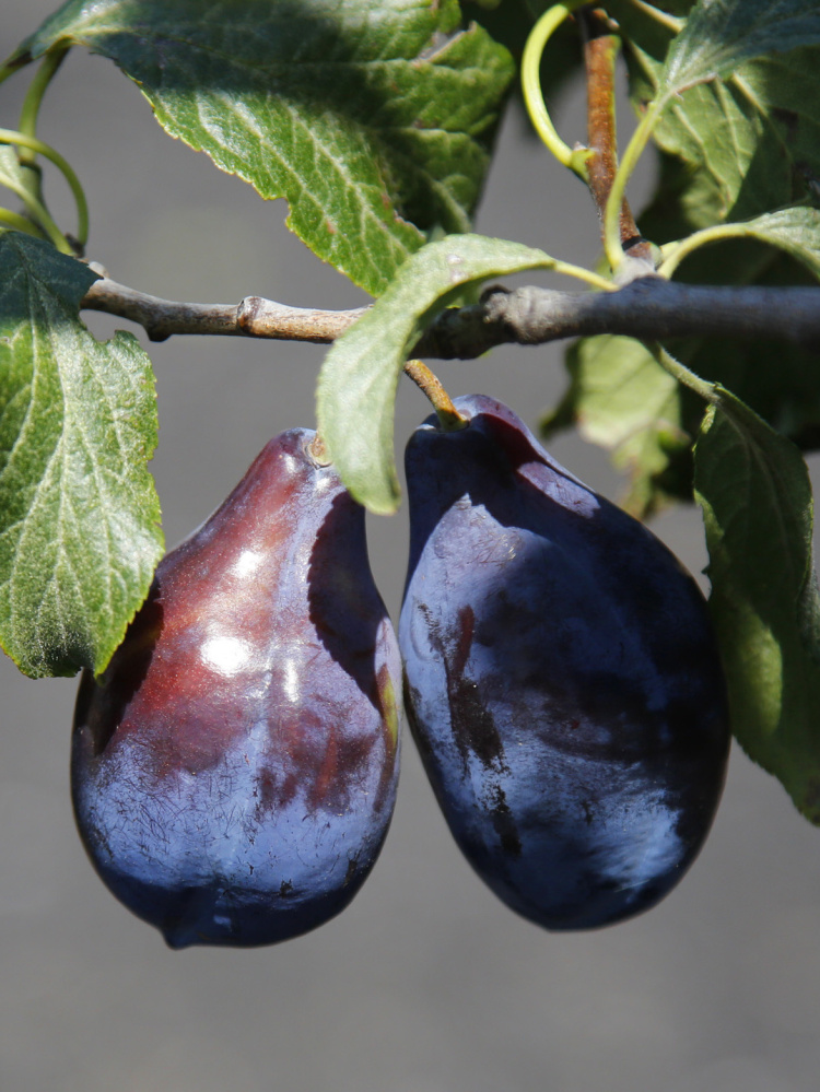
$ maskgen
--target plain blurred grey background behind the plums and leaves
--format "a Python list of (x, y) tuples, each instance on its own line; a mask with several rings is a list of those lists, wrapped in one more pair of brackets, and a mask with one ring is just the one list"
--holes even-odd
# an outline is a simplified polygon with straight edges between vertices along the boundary
[[(52, 7), (3, 0), (3, 57)], [(0, 125), (16, 125), (27, 82), (23, 72), (0, 87)], [(581, 89), (557, 116), (571, 143), (583, 139)], [(362, 301), (289, 234), (283, 202), (262, 202), (168, 139), (108, 61), (69, 57), (40, 132), (79, 171), (92, 210), (90, 257), (117, 280), (201, 302), (249, 293), (324, 307)], [(47, 186), (63, 228), (73, 230), (61, 179), (49, 174)], [(576, 262), (598, 254), (585, 189), (525, 139), (514, 114), (477, 226)], [(86, 317), (99, 337), (129, 326)], [(323, 352), (195, 338), (149, 351), (161, 423), (153, 470), (173, 545), (270, 436), (313, 425)], [(453, 394), (494, 395), (534, 424), (563, 389), (561, 360), (560, 347), (503, 350), (440, 372)], [(399, 449), (426, 412), (402, 383)], [(617, 495), (601, 453), (575, 436), (552, 450)], [(655, 529), (700, 573), (695, 512), (668, 514)], [(395, 618), (406, 514), (372, 519), (368, 531)], [(817, 1088), (820, 831), (737, 749), (703, 854), (666, 902), (634, 921), (562, 936), (514, 916), (452, 843), (406, 735), (394, 824), (349, 911), (278, 948), (173, 953), (102, 886), (74, 832), (75, 682), (32, 682), (3, 660), (0, 686), (3, 1092)]]

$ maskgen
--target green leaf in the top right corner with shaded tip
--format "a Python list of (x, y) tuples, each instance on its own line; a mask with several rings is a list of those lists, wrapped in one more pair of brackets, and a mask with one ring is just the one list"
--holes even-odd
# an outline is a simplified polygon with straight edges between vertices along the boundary
[(660, 75), (666, 97), (746, 60), (820, 43), (817, 0), (700, 0), (672, 42)]

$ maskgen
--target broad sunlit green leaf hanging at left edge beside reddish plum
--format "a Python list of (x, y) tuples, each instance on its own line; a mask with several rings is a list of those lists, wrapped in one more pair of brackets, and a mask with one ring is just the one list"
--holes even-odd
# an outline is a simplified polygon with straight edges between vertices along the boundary
[(96, 274), (0, 236), (0, 644), (32, 677), (102, 671), (162, 556), (151, 363), (78, 318)]

